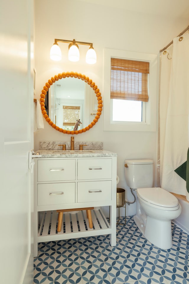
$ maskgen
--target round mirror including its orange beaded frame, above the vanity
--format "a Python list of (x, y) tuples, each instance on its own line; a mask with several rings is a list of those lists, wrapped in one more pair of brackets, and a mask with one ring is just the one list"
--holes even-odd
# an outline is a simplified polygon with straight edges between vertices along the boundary
[[(60, 81), (54, 84), (62, 78), (67, 79), (63, 84), (58, 84)], [(83, 81), (82, 84), (71, 81), (76, 80), (74, 78)], [(53, 87), (50, 89), (52, 85)], [(59, 88), (62, 85), (63, 89), (60, 91)], [(89, 110), (87, 102), (91, 97), (90, 90), (93, 90), (94, 95), (97, 97), (97, 112), (96, 114), (92, 113), (95, 118), (85, 127), (84, 125), (88, 120), (86, 109)], [(49, 125), (62, 133), (74, 135), (86, 132), (98, 122), (102, 112), (102, 97), (97, 85), (89, 77), (73, 71), (62, 72), (51, 77), (45, 83), (40, 95), (40, 105), (43, 117)]]

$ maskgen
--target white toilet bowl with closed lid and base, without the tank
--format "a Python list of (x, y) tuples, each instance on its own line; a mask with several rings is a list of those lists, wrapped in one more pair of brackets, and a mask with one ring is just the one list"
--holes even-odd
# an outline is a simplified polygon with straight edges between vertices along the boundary
[(163, 188), (137, 189), (134, 221), (144, 237), (160, 249), (172, 247), (171, 220), (180, 213), (177, 198)]

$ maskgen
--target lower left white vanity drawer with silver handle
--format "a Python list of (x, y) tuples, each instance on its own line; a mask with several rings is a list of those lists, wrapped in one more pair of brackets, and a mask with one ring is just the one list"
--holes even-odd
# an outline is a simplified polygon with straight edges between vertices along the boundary
[(75, 203), (75, 183), (38, 184), (38, 206)]

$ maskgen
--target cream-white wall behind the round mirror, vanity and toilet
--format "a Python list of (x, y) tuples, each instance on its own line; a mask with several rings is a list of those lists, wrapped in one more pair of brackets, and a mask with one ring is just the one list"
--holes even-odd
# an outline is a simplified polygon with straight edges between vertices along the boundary
[[(36, 98), (40, 98), (43, 86), (52, 76), (63, 71), (77, 71), (89, 76), (96, 83), (103, 100), (105, 48), (158, 54), (159, 50), (187, 25), (186, 17), (173, 19), (171, 14), (160, 17), (79, 0), (35, 1)], [(59, 44), (62, 60), (51, 61), (49, 54), (54, 38), (65, 40), (75, 38), (76, 41), (92, 42), (97, 53), (97, 63), (94, 65), (85, 63), (87, 46), (79, 46), (79, 62), (69, 62), (66, 43)], [(39, 149), (39, 141), (70, 141), (70, 135), (54, 130), (45, 120), (44, 124), (45, 129), (34, 135), (35, 151)], [(124, 160), (147, 158), (153, 159), (154, 164), (157, 164), (157, 131), (103, 131), (103, 111), (98, 123), (92, 129), (74, 136), (75, 141), (102, 141), (104, 149), (118, 154), (117, 174), (120, 178), (118, 187), (126, 189), (129, 201), (133, 200), (133, 196), (125, 182)], [(156, 177), (154, 185), (157, 185)], [(129, 206), (127, 215), (133, 215), (134, 212), (135, 204)]]

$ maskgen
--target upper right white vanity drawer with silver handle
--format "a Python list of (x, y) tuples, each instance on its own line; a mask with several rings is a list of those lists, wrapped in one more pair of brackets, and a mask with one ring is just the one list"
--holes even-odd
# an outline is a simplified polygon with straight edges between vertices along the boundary
[(112, 178), (112, 159), (79, 159), (78, 180)]

